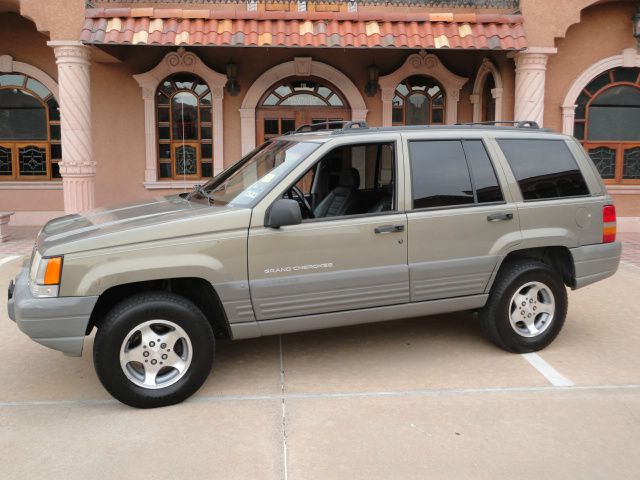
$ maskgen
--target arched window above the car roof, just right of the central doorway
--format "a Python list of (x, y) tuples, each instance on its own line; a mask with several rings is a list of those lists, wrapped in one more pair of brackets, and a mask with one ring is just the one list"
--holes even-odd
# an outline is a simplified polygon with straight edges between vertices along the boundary
[(396, 87), (393, 97), (394, 125), (443, 124), (444, 111), (444, 92), (433, 78), (413, 75)]

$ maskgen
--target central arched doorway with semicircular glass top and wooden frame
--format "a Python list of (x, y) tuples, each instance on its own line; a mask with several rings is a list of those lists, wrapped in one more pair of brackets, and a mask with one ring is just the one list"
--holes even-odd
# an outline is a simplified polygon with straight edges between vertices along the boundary
[(256, 142), (305, 124), (350, 119), (349, 104), (333, 85), (315, 78), (287, 79), (267, 90), (256, 109)]

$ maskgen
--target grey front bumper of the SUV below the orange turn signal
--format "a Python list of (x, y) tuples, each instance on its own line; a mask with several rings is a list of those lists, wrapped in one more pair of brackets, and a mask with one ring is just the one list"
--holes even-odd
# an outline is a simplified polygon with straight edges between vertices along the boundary
[(66, 355), (82, 355), (85, 332), (98, 297), (35, 298), (29, 289), (29, 269), (24, 267), (9, 284), (9, 318), (45, 347)]

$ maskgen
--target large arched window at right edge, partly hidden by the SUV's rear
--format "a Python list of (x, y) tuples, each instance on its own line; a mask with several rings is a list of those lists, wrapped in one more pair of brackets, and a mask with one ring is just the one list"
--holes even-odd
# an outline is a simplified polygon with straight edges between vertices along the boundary
[(640, 183), (640, 68), (615, 68), (580, 93), (574, 135), (606, 183)]

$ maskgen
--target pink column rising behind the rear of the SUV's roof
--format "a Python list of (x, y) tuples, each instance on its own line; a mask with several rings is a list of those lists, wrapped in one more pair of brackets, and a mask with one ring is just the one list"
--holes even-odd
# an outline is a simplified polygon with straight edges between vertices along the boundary
[(555, 48), (529, 48), (517, 53), (514, 120), (544, 122), (544, 90), (549, 54)]

